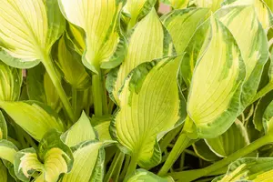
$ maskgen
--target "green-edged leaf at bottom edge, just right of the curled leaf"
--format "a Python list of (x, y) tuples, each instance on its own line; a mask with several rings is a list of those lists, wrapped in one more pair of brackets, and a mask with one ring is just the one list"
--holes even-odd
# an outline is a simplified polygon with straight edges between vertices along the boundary
[(69, 174), (66, 174), (62, 182), (89, 182), (103, 181), (103, 167), (105, 152), (103, 143), (86, 141), (75, 147), (73, 153), (75, 160)]

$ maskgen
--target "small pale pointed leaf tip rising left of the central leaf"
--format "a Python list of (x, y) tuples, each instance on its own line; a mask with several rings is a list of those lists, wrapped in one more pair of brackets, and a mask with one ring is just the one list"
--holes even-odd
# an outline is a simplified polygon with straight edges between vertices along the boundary
[(61, 139), (68, 147), (75, 147), (86, 140), (96, 139), (94, 128), (91, 126), (91, 122), (85, 112), (82, 113), (76, 124), (71, 126), (61, 136)]

